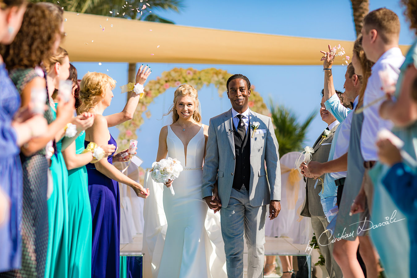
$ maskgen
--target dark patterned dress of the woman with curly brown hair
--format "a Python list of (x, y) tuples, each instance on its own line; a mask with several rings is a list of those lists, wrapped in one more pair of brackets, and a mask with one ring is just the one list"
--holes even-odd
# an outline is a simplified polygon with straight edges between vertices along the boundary
[[(21, 94), (25, 86), (40, 73), (34, 68), (10, 71), (10, 78)], [(42, 76), (41, 76), (42, 77)], [(48, 98), (47, 98), (48, 99)], [(45, 103), (48, 104), (48, 101)], [(51, 110), (44, 117), (49, 123), (54, 120)], [(0, 277), (43, 277), (48, 247), (48, 160), (45, 149), (31, 156), (20, 155), (23, 168), (23, 210), (21, 221), (22, 265), (20, 270), (0, 273)]]

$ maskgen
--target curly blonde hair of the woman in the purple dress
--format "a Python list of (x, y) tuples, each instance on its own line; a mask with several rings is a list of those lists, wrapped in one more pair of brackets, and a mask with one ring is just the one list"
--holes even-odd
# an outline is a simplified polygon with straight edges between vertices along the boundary
[(104, 73), (86, 73), (80, 82), (79, 99), (81, 105), (78, 108), (78, 113), (88, 111), (91, 106), (102, 100), (106, 85), (110, 85), (113, 90), (116, 86), (116, 81)]

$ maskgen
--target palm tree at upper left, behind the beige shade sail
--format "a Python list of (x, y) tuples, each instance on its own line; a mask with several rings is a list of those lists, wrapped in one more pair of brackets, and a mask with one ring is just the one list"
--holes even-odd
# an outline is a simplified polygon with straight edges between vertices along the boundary
[[(51, 2), (56, 0), (30, 0), (31, 2)], [(68, 12), (90, 13), (136, 20), (146, 20), (174, 24), (158, 15), (158, 10), (172, 10), (179, 13), (185, 8), (183, 0), (60, 0), (59, 5)], [(146, 6), (144, 8), (143, 6)], [(110, 13), (111, 12), (111, 13)], [(129, 63), (128, 81), (133, 82), (136, 64)]]

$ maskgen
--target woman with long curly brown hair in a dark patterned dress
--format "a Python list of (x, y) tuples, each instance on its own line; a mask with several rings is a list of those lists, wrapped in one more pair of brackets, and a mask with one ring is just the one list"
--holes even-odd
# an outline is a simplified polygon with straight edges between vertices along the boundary
[[(74, 100), (68, 103), (60, 102), (55, 117), (55, 107), (53, 102), (50, 102), (47, 93), (45, 73), (40, 68), (42, 61), (55, 53), (59, 46), (63, 34), (62, 14), (62, 10), (51, 3), (29, 3), (15, 40), (12, 44), (1, 48), (7, 68), (10, 70), (10, 78), (20, 93), (21, 106), (28, 107), (32, 92), (44, 94), (45, 104), (48, 105), (44, 117), (49, 124), (43, 136), (31, 139), (21, 149), (23, 167), (22, 268), (3, 274), (7, 277), (67, 276), (68, 262), (65, 263), (65, 260), (62, 260), (62, 265), (55, 267), (57, 263), (53, 260), (68, 256), (66, 254), (68, 241), (63, 241), (68, 236), (68, 231), (63, 230), (62, 227), (57, 229), (61, 230), (58, 234), (48, 231), (48, 211), (51, 207), (59, 207), (59, 210), (63, 211), (60, 215), (50, 216), (55, 216), (55, 225), (64, 225), (65, 207), (51, 202), (55, 200), (53, 196), (58, 194), (57, 190), (54, 190), (51, 199), (47, 202), (48, 168), (50, 161), (56, 163), (58, 152), (54, 154), (57, 149), (50, 149), (50, 147), (45, 150), (45, 146), (48, 142), (55, 145), (54, 142), (58, 142), (63, 136), (64, 126), (73, 118)], [(47, 154), (53, 156), (50, 161), (45, 157)], [(53, 245), (52, 243), (55, 242), (61, 242), (61, 244)], [(52, 246), (61, 246), (65, 250), (61, 254), (59, 251), (52, 254), (50, 252)], [(56, 270), (58, 268), (60, 272)]]

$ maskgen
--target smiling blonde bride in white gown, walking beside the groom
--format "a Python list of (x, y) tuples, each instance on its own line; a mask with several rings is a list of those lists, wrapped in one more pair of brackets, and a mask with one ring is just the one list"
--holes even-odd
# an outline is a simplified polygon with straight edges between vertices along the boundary
[[(184, 168), (176, 180), (165, 184), (167, 188), (163, 190), (168, 228), (158, 269), (160, 278), (211, 278), (212, 272), (213, 277), (226, 277), (224, 243), (222, 240), (211, 242), (204, 226), (205, 222), (212, 226), (216, 222), (219, 227), (214, 230), (219, 233), (219, 219), (206, 221), (208, 208), (201, 195), (208, 126), (201, 123), (198, 104), (197, 90), (193, 86), (179, 86), (169, 112), (172, 112), (173, 124), (164, 126), (159, 134), (156, 161), (168, 154), (178, 159)], [(168, 190), (170, 186), (175, 195)], [(215, 217), (213, 212), (209, 215)]]

